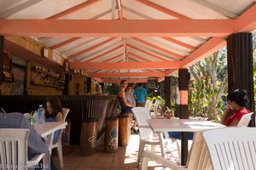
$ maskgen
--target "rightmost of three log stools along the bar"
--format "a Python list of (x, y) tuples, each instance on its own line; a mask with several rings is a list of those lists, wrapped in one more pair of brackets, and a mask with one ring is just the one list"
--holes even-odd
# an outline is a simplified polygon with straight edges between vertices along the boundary
[(119, 115), (119, 146), (126, 146), (130, 137), (129, 114)]

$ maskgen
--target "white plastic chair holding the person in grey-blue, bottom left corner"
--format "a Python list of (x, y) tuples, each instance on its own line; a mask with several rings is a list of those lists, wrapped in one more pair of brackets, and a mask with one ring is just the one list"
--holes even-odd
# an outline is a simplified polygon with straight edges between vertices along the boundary
[(27, 160), (28, 134), (29, 129), (0, 128), (0, 165), (3, 167), (1, 169), (8, 169), (7, 166), (11, 165), (27, 169), (37, 165), (44, 157), (45, 154), (42, 153), (34, 156), (32, 160)]

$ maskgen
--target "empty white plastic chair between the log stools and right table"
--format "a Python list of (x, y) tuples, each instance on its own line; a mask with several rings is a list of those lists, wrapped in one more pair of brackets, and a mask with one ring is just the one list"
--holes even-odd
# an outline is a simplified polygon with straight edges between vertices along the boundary
[(134, 107), (131, 112), (136, 116), (137, 125), (139, 127), (140, 144), (137, 156), (137, 165), (141, 162), (141, 157), (143, 155), (143, 150), (146, 144), (151, 144), (151, 150), (155, 150), (155, 145), (160, 144), (158, 136), (153, 135), (152, 129), (148, 126), (147, 119), (150, 119), (148, 109), (144, 107)]

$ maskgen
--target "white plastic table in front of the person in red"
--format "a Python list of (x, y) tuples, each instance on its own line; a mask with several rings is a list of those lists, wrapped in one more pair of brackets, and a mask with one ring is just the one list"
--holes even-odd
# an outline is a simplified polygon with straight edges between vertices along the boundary
[[(164, 138), (162, 135), (163, 132), (172, 131), (186, 133), (225, 127), (224, 125), (216, 122), (192, 119), (148, 119), (147, 121), (152, 130), (159, 135), (162, 156), (166, 156)], [(188, 156), (188, 139), (183, 139), (183, 135), (181, 150), (181, 165), (186, 165)]]

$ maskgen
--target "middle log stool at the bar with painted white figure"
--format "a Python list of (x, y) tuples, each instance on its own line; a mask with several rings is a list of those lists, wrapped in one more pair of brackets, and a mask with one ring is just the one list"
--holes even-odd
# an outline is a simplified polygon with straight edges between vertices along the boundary
[(119, 119), (116, 116), (108, 116), (105, 121), (104, 150), (115, 152), (118, 150)]

